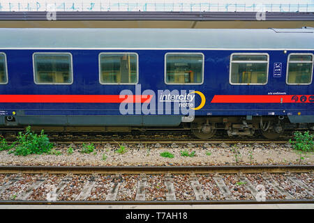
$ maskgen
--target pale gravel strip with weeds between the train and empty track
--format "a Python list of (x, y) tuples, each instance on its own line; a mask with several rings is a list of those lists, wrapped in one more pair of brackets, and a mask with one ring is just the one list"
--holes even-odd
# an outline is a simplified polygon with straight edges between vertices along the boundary
[[(0, 165), (30, 166), (181, 166), (181, 165), (264, 165), (264, 164), (314, 164), (313, 152), (304, 153), (304, 159), (289, 144), (126, 144), (124, 153), (119, 153), (117, 144), (96, 144), (92, 153), (81, 153), (82, 145), (54, 146), (61, 155), (18, 156), (0, 151)], [(237, 152), (234, 151), (237, 148)], [(160, 153), (170, 152), (173, 158)], [(194, 156), (181, 156), (182, 151)]]

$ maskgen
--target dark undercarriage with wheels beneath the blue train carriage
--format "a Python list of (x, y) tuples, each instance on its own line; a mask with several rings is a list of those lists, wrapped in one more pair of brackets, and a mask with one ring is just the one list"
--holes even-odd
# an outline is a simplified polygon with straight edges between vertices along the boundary
[[(311, 117), (312, 119), (312, 117)], [(50, 120), (51, 121), (51, 120)], [(131, 132), (147, 130), (190, 130), (192, 134), (199, 139), (210, 139), (216, 135), (217, 130), (227, 133), (228, 137), (253, 137), (255, 134), (262, 134), (267, 139), (276, 139), (281, 137), (286, 130), (314, 130), (314, 123), (302, 122), (292, 123), (287, 116), (197, 116), (192, 122), (177, 122), (177, 125), (160, 126), (151, 123), (149, 126), (142, 125), (71, 125), (66, 123), (62, 125), (49, 125), (47, 123), (40, 125), (29, 122), (31, 129), (36, 132), (45, 130), (45, 132)], [(15, 118), (7, 118), (5, 125), (0, 127), (1, 132), (10, 130), (23, 130), (28, 125), (20, 124)]]

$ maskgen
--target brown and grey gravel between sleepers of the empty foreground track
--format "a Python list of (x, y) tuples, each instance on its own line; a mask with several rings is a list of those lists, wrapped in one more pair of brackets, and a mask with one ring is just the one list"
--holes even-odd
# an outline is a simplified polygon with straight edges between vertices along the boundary
[[(313, 173), (290, 173), (290, 174), (269, 174), (271, 181), (265, 180), (263, 174), (0, 174), (0, 201), (8, 200), (28, 200), (45, 201), (49, 194), (55, 194), (56, 201), (108, 201), (112, 187), (118, 183), (115, 191), (117, 197), (115, 201), (135, 201), (139, 192), (139, 181), (147, 179), (146, 185), (142, 188), (145, 191), (142, 201), (166, 201), (168, 192), (165, 187), (165, 178), (171, 178), (174, 185), (174, 194), (177, 201), (192, 201), (196, 199), (193, 190), (193, 181), (200, 183), (199, 189), (204, 194), (207, 201), (220, 200), (242, 200), (254, 201), (251, 190), (257, 190), (258, 186), (264, 187), (264, 197), (267, 200), (276, 199), (313, 199)], [(230, 197), (224, 195), (215, 183), (214, 178), (221, 178), (231, 194)], [(241, 178), (247, 181), (241, 182)], [(304, 188), (294, 184), (290, 178), (298, 178), (301, 183), (306, 183)], [(40, 185), (32, 187), (38, 180)], [(278, 183), (290, 197), (285, 197), (271, 183)], [(84, 188), (89, 186), (89, 191)], [(249, 189), (248, 185), (252, 185)], [(32, 187), (32, 188), (31, 188)], [(25, 195), (26, 194), (26, 195)], [(82, 195), (82, 194), (85, 194)], [(109, 201), (113, 201), (109, 200)]]

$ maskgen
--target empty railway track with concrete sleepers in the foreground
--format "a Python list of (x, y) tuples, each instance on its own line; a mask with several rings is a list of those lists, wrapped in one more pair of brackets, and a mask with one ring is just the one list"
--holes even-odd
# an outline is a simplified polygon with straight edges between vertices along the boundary
[(0, 204), (314, 203), (313, 165), (0, 167)]

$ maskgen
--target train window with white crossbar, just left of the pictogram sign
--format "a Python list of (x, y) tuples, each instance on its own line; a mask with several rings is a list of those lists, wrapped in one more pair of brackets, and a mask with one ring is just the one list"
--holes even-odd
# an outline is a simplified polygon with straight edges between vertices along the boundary
[(232, 54), (230, 84), (267, 84), (268, 54)]

